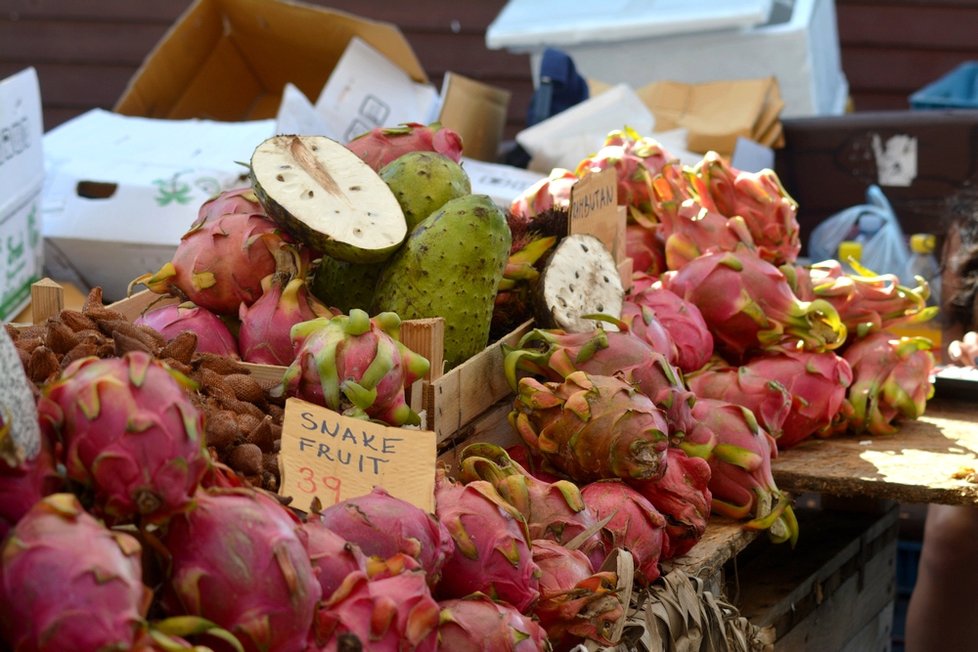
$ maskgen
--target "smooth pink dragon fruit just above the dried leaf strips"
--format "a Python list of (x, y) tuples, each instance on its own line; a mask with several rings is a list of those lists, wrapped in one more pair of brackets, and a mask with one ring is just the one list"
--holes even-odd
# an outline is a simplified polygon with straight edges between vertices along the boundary
[(581, 496), (598, 520), (611, 517), (601, 528), (608, 553), (615, 548), (629, 551), (635, 558), (637, 577), (643, 584), (658, 579), (666, 527), (666, 519), (659, 510), (621, 480), (588, 483), (581, 487)]

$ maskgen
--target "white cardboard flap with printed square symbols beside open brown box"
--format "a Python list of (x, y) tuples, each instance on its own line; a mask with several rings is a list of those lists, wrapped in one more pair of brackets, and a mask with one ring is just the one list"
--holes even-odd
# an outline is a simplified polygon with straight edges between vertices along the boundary
[(431, 121), (438, 93), (354, 36), (315, 103), (316, 111), (348, 142), (373, 129)]

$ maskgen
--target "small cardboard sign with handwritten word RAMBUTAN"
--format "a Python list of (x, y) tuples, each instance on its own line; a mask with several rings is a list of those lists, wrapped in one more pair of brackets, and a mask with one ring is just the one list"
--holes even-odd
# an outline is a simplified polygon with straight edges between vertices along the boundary
[(591, 172), (571, 188), (567, 232), (593, 235), (618, 261), (625, 255), (624, 225), (618, 209), (618, 176), (614, 168)]

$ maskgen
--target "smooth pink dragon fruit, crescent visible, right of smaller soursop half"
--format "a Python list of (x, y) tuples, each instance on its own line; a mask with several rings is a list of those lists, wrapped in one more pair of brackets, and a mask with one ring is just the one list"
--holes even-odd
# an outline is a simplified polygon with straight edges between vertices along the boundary
[(658, 283), (642, 290), (633, 288), (625, 301), (652, 311), (655, 319), (669, 333), (676, 347), (674, 364), (683, 373), (702, 368), (713, 355), (713, 334), (696, 304)]

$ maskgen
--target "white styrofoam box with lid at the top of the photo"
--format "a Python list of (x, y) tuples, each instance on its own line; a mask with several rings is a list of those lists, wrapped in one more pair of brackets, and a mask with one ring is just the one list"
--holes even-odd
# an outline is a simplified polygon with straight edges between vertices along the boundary
[[(696, 84), (773, 75), (785, 101), (782, 117), (845, 112), (849, 86), (842, 72), (833, 0), (776, 0), (767, 21), (753, 26), (743, 21), (756, 14), (741, 0), (732, 3), (743, 5), (740, 22), (731, 14), (725, 29), (718, 29), (723, 25), (710, 18), (727, 3), (683, 0), (684, 5), (701, 7), (702, 15), (687, 11), (686, 21), (664, 26), (662, 21), (636, 19), (631, 5), (651, 6), (647, 2), (613, 1), (629, 10), (609, 11), (607, 4), (592, 4), (591, 15), (581, 14), (576, 25), (562, 25), (543, 13), (547, 3), (510, 0), (486, 31), (486, 44), (529, 53), (534, 77), (544, 49), (555, 47), (573, 58), (584, 77), (609, 84), (639, 88), (656, 81)], [(531, 22), (528, 16), (533, 12), (538, 16)], [(605, 19), (595, 20), (595, 12)]]

